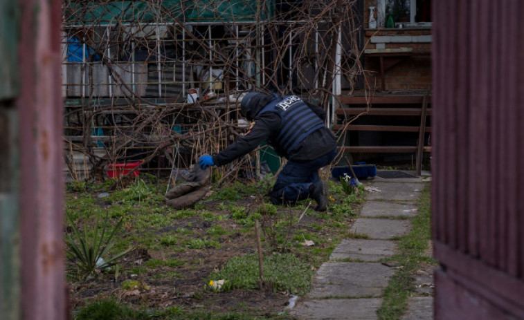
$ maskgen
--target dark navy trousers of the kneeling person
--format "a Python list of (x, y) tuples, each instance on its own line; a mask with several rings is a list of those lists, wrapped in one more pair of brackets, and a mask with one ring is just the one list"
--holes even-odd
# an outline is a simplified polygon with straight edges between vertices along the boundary
[(325, 156), (308, 162), (288, 161), (278, 174), (271, 191), (273, 203), (295, 203), (309, 198), (309, 187), (320, 181), (318, 169), (330, 164), (336, 156), (336, 149)]

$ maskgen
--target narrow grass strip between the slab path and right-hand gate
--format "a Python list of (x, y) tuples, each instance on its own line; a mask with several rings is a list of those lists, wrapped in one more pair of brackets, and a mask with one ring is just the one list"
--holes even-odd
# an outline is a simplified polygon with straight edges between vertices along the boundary
[(419, 198), (419, 214), (411, 219), (409, 234), (399, 238), (398, 251), (391, 260), (398, 268), (383, 294), (383, 302), (377, 315), (383, 320), (401, 318), (408, 306), (408, 298), (413, 292), (413, 274), (422, 263), (435, 263), (424, 256), (424, 250), (431, 239), (431, 197), (429, 185)]

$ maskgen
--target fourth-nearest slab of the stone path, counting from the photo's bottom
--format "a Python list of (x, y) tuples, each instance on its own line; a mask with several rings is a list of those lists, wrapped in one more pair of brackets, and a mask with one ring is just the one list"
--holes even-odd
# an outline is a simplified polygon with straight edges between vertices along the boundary
[(409, 220), (358, 218), (350, 234), (367, 234), (372, 239), (388, 240), (406, 234), (411, 227)]

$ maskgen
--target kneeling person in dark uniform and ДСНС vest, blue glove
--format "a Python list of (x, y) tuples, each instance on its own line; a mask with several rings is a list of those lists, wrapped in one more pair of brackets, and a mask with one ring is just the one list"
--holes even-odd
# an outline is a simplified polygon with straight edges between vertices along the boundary
[(325, 211), (327, 182), (320, 181), (318, 169), (334, 160), (336, 140), (324, 126), (324, 109), (296, 95), (251, 92), (242, 99), (240, 113), (255, 122), (251, 130), (215, 156), (202, 156), (201, 167), (228, 164), (266, 141), (288, 160), (273, 186), (271, 202), (278, 205), (313, 198), (316, 210)]

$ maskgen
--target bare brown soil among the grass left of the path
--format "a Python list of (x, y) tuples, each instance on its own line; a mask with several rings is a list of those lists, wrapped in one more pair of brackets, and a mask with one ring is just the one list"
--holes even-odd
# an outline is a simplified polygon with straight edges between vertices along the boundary
[[(338, 197), (337, 197), (338, 198)], [(206, 281), (212, 272), (219, 271), (234, 256), (243, 254), (253, 254), (256, 252), (256, 239), (254, 227), (246, 228), (240, 220), (227, 218), (229, 211), (220, 209), (225, 201), (209, 200), (204, 203), (205, 211), (213, 212), (217, 217), (213, 222), (204, 220), (199, 216), (190, 216), (174, 220), (172, 225), (160, 229), (150, 230), (154, 236), (165, 234), (177, 234), (183, 240), (202, 239), (213, 240), (219, 243), (219, 247), (208, 247), (205, 249), (192, 249), (186, 243), (150, 248), (147, 245), (138, 247), (120, 260), (120, 274), (117, 279), (114, 270), (96, 275), (89, 281), (73, 282), (71, 288), (71, 308), (78, 309), (80, 305), (97, 299), (99, 297), (116, 297), (120, 301), (130, 303), (136, 308), (168, 308), (170, 306), (185, 306), (195, 308), (195, 310), (213, 310), (217, 312), (232, 312), (235, 310), (251, 310), (257, 314), (268, 314), (274, 316), (275, 313), (284, 309), (289, 301), (287, 292), (268, 292), (264, 290), (231, 290), (230, 292), (215, 293), (204, 290)], [(99, 203), (105, 205), (104, 203)], [(253, 197), (246, 197), (235, 202), (239, 207), (246, 207), (247, 211), (253, 212), (258, 202)], [(353, 207), (354, 212), (358, 212), (361, 205)], [(279, 207), (279, 212), (284, 215), (299, 217), (303, 210), (293, 207)], [(226, 216), (224, 220), (221, 216)], [(352, 224), (352, 218), (341, 216), (337, 222), (347, 225), (347, 229)], [(286, 252), (293, 252), (311, 263), (318, 263), (321, 254), (311, 253), (313, 251), (323, 252), (323, 249), (332, 245), (332, 233), (340, 232), (329, 227), (329, 218), (320, 218), (316, 214), (308, 213), (302, 216), (300, 224), (293, 227), (289, 234), (284, 234), (286, 238)], [(287, 221), (287, 220), (285, 220)], [(315, 225), (315, 226), (313, 226)], [(320, 227), (318, 227), (318, 226)], [(208, 231), (211, 227), (222, 227), (225, 234), (211, 235)], [(183, 234), (179, 229), (191, 230), (191, 234)], [(219, 229), (219, 228), (217, 228)], [(134, 240), (139, 241), (140, 235), (147, 232), (142, 230), (127, 230), (127, 233), (134, 232)], [(303, 250), (303, 247), (296, 245), (301, 241), (293, 240), (293, 236), (309, 232), (318, 236), (323, 241), (316, 241), (312, 249)], [(126, 232), (119, 236), (126, 236)], [(185, 238), (184, 238), (185, 237)], [(262, 234), (264, 240), (264, 252), (271, 254), (269, 246), (269, 235)], [(317, 243), (318, 242), (318, 243)], [(134, 243), (137, 244), (137, 243)], [(280, 243), (282, 244), (282, 243)], [(293, 245), (295, 246), (293, 249)], [(291, 247), (291, 249), (290, 249)], [(300, 250), (297, 250), (300, 249)], [(315, 256), (316, 255), (316, 256)], [(180, 261), (181, 265), (168, 266), (160, 265), (152, 267), (146, 262), (150, 259), (168, 261), (174, 259)], [(321, 261), (320, 261), (321, 262)], [(140, 272), (137, 272), (139, 270)], [(136, 272), (137, 275), (133, 275)], [(141, 283), (140, 288), (125, 290), (124, 281), (134, 280)]]

